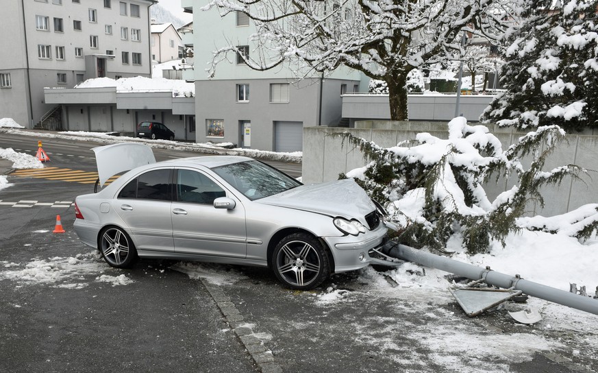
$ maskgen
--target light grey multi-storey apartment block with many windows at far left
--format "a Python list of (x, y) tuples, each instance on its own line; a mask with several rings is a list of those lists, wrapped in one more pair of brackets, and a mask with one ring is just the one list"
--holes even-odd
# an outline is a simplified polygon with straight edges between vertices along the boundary
[(53, 111), (61, 117), (60, 106), (45, 103), (45, 87), (151, 76), (149, 7), (157, 2), (3, 1), (0, 118), (32, 128)]

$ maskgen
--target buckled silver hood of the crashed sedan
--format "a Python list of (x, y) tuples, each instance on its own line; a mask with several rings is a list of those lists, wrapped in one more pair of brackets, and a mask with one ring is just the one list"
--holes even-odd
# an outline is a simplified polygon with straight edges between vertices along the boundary
[(363, 218), (376, 208), (371, 198), (353, 179), (301, 185), (256, 202), (347, 219)]

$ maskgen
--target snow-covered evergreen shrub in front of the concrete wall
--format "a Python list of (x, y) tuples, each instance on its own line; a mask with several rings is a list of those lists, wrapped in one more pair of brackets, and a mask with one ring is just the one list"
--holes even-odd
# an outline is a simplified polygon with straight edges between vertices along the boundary
[[(371, 197), (386, 202), (392, 219), (403, 229), (400, 241), (436, 250), (446, 248), (455, 235), (472, 254), (488, 250), (492, 240), (504, 244), (510, 232), (534, 226), (530, 221), (520, 225), (517, 219), (530, 200), (543, 206), (541, 186), (587, 172), (575, 165), (543, 170), (552, 149), (564, 138), (558, 126), (538, 128), (505, 150), (488, 128), (468, 125), (463, 117), (449, 123), (448, 139), (420, 133), (415, 141), (386, 149), (347, 132), (333, 136), (360, 147), (371, 160), (341, 177), (356, 178)], [(507, 177), (511, 189), (490, 200), (484, 184)], [(587, 238), (598, 228), (598, 211), (582, 215), (583, 219), (572, 218), (580, 224), (571, 235)]]

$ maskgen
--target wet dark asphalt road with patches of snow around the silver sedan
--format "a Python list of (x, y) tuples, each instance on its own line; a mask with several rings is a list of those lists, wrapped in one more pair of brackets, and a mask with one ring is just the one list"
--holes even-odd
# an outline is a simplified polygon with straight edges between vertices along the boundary
[[(43, 143), (49, 165), (86, 171), (95, 170), (95, 146)], [(3, 134), (0, 147), (35, 152), (37, 143)], [(447, 292), (372, 269), (308, 292), (252, 267), (140, 261), (114, 269), (79, 242), (70, 204), (54, 204), (92, 185), (8, 180), (15, 185), (0, 201), (49, 204), (0, 204), (0, 372), (598, 371), (595, 315), (560, 320), (540, 302), (545, 320), (530, 326), (506, 314), (521, 304), (469, 318)], [(58, 214), (64, 234), (51, 232)]]

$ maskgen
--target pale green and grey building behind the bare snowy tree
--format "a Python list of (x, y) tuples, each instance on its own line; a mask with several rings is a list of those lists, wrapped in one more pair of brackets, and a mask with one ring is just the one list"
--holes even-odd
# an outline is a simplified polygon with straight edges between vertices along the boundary
[[(312, 75), (300, 82), (288, 67), (255, 71), (242, 58), (229, 56), (216, 75), (205, 69), (212, 51), (234, 40), (251, 58), (256, 45), (250, 40), (256, 27), (247, 16), (217, 10), (202, 11), (208, 1), (182, 0), (182, 8), (193, 14), (193, 32), (182, 35), (193, 56), (186, 58), (193, 69), (183, 78), (195, 81), (195, 139), (197, 142), (231, 142), (242, 147), (294, 152), (303, 149), (303, 127), (339, 125), (343, 93), (366, 91), (362, 74), (339, 68), (332, 75)], [(195, 8), (195, 11), (193, 7)], [(309, 146), (307, 144), (306, 146)]]

